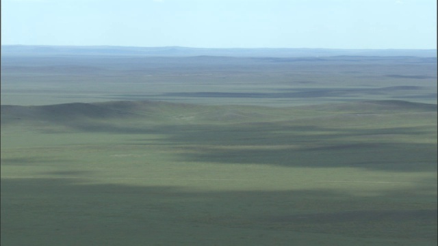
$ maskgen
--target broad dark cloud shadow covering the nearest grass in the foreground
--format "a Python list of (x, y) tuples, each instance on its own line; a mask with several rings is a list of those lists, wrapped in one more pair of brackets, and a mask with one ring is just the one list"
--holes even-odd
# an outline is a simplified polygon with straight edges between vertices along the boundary
[[(436, 208), (415, 203), (433, 200), (421, 186), (361, 197), (330, 189), (193, 191), (87, 181), (2, 178), (2, 243), (205, 245), (215, 240), (227, 245), (241, 238), (240, 243), (254, 245), (260, 239), (248, 233), (266, 233), (261, 239), (266, 243), (290, 242), (294, 232), (427, 241), (437, 234)], [(415, 194), (411, 202), (407, 193)], [(200, 234), (201, 228), (210, 228), (205, 229), (210, 234)], [(309, 245), (320, 245), (307, 236)]]

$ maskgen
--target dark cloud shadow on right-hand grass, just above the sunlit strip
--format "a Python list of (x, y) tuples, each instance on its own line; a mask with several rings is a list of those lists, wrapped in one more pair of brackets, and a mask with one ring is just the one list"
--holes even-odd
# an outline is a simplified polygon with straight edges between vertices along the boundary
[(286, 167), (360, 167), (398, 172), (435, 172), (433, 144), (342, 144), (279, 150), (253, 148), (221, 150), (205, 148), (182, 154), (182, 161), (228, 164), (264, 164)]

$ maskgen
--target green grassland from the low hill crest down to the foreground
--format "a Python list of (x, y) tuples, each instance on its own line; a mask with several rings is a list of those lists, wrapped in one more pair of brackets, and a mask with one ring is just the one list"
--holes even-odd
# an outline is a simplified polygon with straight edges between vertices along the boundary
[(437, 243), (436, 105), (1, 112), (4, 245)]

